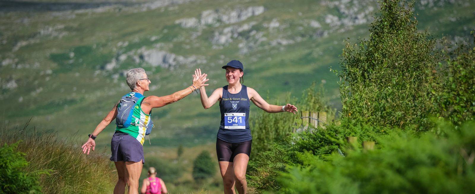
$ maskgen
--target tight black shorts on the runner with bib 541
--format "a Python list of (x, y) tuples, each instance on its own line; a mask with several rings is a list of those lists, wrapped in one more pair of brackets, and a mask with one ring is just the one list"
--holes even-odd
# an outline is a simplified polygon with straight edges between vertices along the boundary
[(237, 154), (245, 153), (247, 156), (251, 155), (252, 140), (229, 143), (216, 138), (216, 154), (218, 161), (233, 162)]

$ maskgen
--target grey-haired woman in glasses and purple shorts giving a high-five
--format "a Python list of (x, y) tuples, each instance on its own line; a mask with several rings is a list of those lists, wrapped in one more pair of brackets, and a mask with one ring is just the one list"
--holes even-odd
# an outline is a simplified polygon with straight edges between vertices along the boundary
[[(168, 96), (144, 97), (143, 93), (149, 91), (149, 85), (151, 83), (145, 71), (142, 68), (136, 68), (127, 72), (126, 81), (132, 92), (125, 95), (123, 99), (129, 97), (130, 99), (135, 99), (136, 102), (132, 105), (133, 109), (129, 109), (129, 112), (132, 115), (129, 117), (130, 120), (127, 120), (128, 123), (120, 126), (117, 125), (115, 133), (112, 136), (112, 156), (110, 160), (114, 161), (119, 176), (119, 180), (114, 187), (114, 194), (123, 194), (125, 185), (128, 185), (129, 194), (138, 194), (140, 173), (142, 172), (142, 165), (145, 163), (142, 145), (145, 130), (151, 123), (150, 116), (152, 108), (169, 105), (188, 96), (196, 89), (202, 86), (207, 86), (208, 84), (205, 84), (205, 82), (208, 81), (208, 79), (203, 78), (206, 78), (206, 74), (194, 78), (191, 86)], [(89, 154), (91, 149), (94, 151), (96, 136), (102, 132), (109, 123), (116, 119), (118, 109), (121, 110), (121, 108), (126, 108), (124, 107), (126, 104), (120, 106), (120, 103), (133, 101), (123, 101), (123, 99), (121, 99), (121, 101), (119, 101), (119, 103), (117, 103), (96, 126), (94, 132), (88, 135), (89, 139), (82, 146), (83, 153)], [(121, 112), (121, 115), (124, 115), (125, 113), (126, 112)]]

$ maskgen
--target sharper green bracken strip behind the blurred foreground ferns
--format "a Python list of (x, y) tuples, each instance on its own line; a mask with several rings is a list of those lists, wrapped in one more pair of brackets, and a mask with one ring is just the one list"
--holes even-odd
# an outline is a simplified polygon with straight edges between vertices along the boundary
[(346, 154), (347, 148), (355, 149), (345, 142), (346, 136), (358, 137), (357, 149), (361, 141), (375, 141), (380, 134), (393, 129), (343, 119), (340, 125), (329, 123), (323, 130), (291, 134), (279, 143), (269, 146), (269, 150), (258, 154), (250, 163), (248, 185), (260, 191), (279, 191), (281, 184), (277, 177), (286, 172), (288, 165), (304, 165), (301, 156), (310, 154), (322, 161), (329, 160), (332, 154)]

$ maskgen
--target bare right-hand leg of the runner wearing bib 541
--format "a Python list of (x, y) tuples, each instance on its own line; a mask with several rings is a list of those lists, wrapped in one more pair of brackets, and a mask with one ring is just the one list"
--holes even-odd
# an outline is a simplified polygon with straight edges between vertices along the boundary
[(246, 170), (248, 162), (249, 156), (247, 154), (240, 153), (234, 157), (234, 179), (239, 194), (246, 194), (247, 192)]

